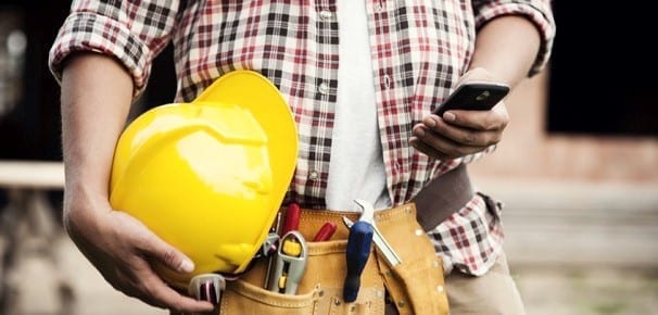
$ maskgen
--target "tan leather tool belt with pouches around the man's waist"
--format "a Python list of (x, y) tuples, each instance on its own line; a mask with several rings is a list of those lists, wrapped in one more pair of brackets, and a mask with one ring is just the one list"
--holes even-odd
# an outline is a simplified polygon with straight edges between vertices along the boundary
[(374, 245), (360, 276), (356, 301), (343, 300), (346, 275), (345, 249), (349, 229), (342, 216), (358, 219), (358, 213), (304, 210), (300, 232), (312, 240), (326, 223), (338, 229), (331, 240), (307, 241), (308, 261), (296, 294), (265, 289), (267, 260), (261, 259), (238, 280), (228, 281), (219, 314), (384, 314), (387, 291), (400, 314), (447, 314), (443, 290), (443, 265), (422, 228), (413, 204), (375, 214), (380, 231), (396, 251), (402, 264), (390, 267)]

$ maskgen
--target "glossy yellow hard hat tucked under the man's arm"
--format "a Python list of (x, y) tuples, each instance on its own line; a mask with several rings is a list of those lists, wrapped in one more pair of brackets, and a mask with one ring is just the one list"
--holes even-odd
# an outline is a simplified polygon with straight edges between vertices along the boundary
[(218, 78), (191, 103), (156, 106), (121, 135), (110, 202), (195, 265), (156, 272), (186, 288), (195, 275), (243, 272), (290, 185), (298, 138), (277, 88), (252, 71)]

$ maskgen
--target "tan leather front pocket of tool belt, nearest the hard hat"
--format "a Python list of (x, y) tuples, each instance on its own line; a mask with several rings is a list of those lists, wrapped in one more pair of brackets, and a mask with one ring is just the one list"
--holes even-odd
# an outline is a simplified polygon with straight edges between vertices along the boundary
[(229, 281), (219, 304), (219, 314), (383, 314), (384, 286), (374, 255), (360, 277), (358, 298), (343, 300), (346, 274), (346, 240), (307, 242), (308, 262), (296, 294), (264, 289), (266, 260), (258, 261), (240, 279)]

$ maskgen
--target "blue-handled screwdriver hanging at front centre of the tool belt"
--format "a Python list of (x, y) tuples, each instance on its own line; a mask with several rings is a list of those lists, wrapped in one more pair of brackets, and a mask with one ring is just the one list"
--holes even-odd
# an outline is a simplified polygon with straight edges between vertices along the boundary
[(345, 257), (347, 261), (347, 275), (343, 285), (343, 299), (345, 302), (356, 301), (360, 287), (360, 274), (368, 262), (370, 247), (372, 245), (372, 213), (364, 212), (360, 218), (350, 228)]

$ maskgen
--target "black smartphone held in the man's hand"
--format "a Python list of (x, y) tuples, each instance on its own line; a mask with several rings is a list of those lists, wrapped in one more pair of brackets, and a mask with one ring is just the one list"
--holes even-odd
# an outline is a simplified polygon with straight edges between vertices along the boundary
[(435, 110), (443, 116), (448, 110), (489, 111), (509, 92), (509, 86), (497, 83), (469, 81), (457, 87)]

